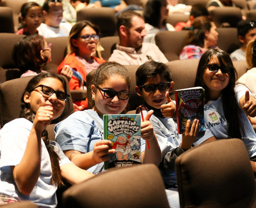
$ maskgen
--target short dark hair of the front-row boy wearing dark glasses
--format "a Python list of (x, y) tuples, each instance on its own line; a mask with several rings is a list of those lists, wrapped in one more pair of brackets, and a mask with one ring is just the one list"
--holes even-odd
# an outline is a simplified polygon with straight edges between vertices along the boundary
[(172, 82), (171, 71), (164, 63), (157, 61), (147, 61), (142, 64), (136, 71), (136, 85), (140, 87), (147, 82), (148, 78), (163, 77), (167, 82)]

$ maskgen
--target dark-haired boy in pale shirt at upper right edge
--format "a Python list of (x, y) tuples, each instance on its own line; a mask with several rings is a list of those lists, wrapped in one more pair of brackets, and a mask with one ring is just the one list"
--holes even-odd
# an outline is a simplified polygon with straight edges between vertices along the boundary
[(241, 20), (238, 22), (237, 37), (242, 46), (232, 52), (230, 57), (233, 61), (245, 61), (247, 43), (256, 39), (256, 22), (253, 20)]

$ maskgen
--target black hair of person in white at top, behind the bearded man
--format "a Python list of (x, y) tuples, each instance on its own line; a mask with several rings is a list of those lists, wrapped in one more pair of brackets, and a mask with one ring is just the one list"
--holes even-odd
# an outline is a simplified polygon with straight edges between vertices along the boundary
[(148, 0), (143, 11), (145, 22), (154, 27), (159, 27), (161, 20), (161, 6), (164, 4), (166, 4), (166, 0)]

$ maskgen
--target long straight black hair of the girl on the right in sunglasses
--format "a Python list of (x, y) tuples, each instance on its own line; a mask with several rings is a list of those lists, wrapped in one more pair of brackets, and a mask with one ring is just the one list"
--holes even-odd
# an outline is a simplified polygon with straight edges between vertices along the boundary
[[(205, 89), (205, 103), (207, 103), (207, 101), (210, 100), (209, 89), (207, 85), (205, 85), (203, 77), (204, 71), (206, 69), (205, 65), (209, 63), (212, 56), (217, 57), (217, 59), (220, 61), (220, 66), (227, 66), (230, 69), (228, 73), (230, 79), (227, 87), (225, 87), (225, 89), (221, 91), (221, 100), (223, 103), (224, 115), (227, 119), (228, 124), (228, 138), (241, 138), (242, 133), (244, 135), (242, 125), (243, 123), (241, 122), (241, 119), (239, 117), (239, 112), (241, 112), (241, 109), (239, 108), (239, 105), (237, 103), (236, 93), (234, 91), (237, 72), (234, 68), (232, 60), (230, 59), (230, 56), (219, 48), (207, 50), (199, 61), (196, 73), (195, 86), (200, 86)], [(242, 132), (240, 130), (242, 130)]]

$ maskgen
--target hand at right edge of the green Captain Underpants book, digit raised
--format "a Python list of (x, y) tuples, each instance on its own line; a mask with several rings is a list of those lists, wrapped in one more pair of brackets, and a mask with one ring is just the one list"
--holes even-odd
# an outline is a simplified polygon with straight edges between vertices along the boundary
[(144, 117), (144, 121), (141, 123), (141, 138), (145, 140), (152, 140), (154, 138), (154, 129), (152, 123), (149, 121), (154, 110), (148, 111), (147, 115)]

